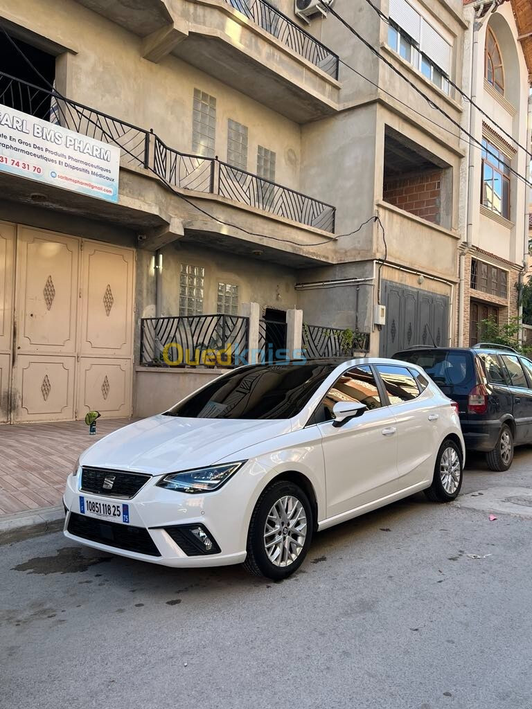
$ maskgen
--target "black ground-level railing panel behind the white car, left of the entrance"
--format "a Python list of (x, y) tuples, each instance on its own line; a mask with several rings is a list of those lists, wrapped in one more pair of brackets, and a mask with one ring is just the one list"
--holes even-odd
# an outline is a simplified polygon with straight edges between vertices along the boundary
[[(144, 367), (235, 367), (248, 348), (249, 320), (232, 315), (140, 320)], [(241, 364), (241, 362), (236, 362)]]

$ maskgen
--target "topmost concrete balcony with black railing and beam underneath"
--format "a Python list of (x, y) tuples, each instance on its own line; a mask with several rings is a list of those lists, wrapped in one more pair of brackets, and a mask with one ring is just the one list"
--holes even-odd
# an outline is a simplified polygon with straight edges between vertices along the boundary
[(338, 111), (338, 56), (267, 0), (77, 2), (143, 38), (145, 59), (179, 57), (292, 121)]

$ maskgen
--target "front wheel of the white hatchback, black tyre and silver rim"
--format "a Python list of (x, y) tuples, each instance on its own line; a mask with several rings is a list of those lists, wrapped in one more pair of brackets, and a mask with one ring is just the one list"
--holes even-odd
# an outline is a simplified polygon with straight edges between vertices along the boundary
[(267, 579), (286, 579), (306, 557), (314, 530), (311, 503), (287, 480), (262, 492), (251, 515), (244, 567)]

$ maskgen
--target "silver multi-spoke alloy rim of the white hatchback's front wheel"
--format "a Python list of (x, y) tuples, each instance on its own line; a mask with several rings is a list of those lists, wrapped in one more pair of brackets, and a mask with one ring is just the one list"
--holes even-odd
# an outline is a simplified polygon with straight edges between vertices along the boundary
[(292, 495), (279, 498), (266, 518), (264, 548), (275, 566), (290, 566), (301, 554), (306, 540), (306, 514)]

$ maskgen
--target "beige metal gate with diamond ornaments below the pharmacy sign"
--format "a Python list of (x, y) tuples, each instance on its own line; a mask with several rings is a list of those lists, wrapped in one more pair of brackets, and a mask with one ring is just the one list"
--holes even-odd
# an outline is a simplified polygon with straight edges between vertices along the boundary
[[(16, 239), (13, 228), (11, 242), (15, 316), (4, 420), (72, 420), (92, 409), (130, 415), (133, 250), (24, 226)], [(0, 247), (0, 263), (1, 254)], [(1, 274), (0, 266), (0, 296)], [(0, 363), (3, 346), (0, 339)], [(10, 359), (7, 350), (8, 366)]]

